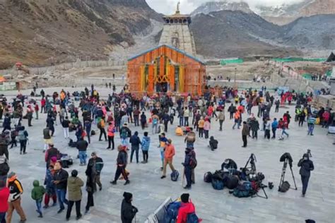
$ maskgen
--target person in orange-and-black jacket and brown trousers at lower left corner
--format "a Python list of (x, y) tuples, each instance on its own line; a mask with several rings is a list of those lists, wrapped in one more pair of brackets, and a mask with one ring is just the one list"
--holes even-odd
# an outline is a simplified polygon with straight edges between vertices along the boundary
[(13, 215), (13, 211), (16, 210), (18, 215), (20, 215), (20, 222), (25, 222), (25, 212), (21, 207), (21, 195), (23, 193), (22, 184), (18, 181), (16, 174), (11, 172), (8, 174), (8, 188), (9, 188), (9, 208), (7, 212), (6, 221), (11, 222), (11, 217)]

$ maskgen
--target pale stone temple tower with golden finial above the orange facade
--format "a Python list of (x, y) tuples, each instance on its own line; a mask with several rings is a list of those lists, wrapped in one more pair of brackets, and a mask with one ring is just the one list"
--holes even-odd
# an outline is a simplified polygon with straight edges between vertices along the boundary
[(191, 16), (182, 15), (177, 5), (177, 11), (172, 16), (163, 16), (164, 27), (160, 37), (160, 45), (167, 45), (186, 52), (189, 55), (196, 56), (193, 34), (189, 30)]

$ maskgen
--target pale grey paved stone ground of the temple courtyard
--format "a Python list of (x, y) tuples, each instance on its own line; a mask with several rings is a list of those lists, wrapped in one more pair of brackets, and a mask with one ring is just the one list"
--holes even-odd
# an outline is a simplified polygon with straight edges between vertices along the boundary
[[(70, 90), (70, 89), (69, 89)], [(52, 93), (54, 89), (46, 90)], [(100, 94), (107, 95), (107, 90), (99, 90)], [(27, 91), (28, 92), (28, 91)], [(6, 95), (13, 95), (14, 92), (6, 92)], [(280, 109), (278, 114), (271, 114), (271, 117), (279, 117), (287, 109)], [(289, 108), (293, 114), (294, 108)], [(257, 108), (253, 111), (256, 113)], [(228, 117), (228, 114), (226, 114)], [(246, 115), (244, 115), (246, 117)], [(57, 214), (58, 207), (51, 207), (44, 211), (44, 218), (37, 219), (35, 212), (35, 203), (30, 198), (30, 191), (34, 179), (42, 183), (45, 177), (44, 153), (42, 153), (42, 128), (45, 126), (45, 114), (40, 115), (39, 120), (33, 120), (33, 127), (28, 128), (30, 134), (30, 144), (28, 145), (28, 154), (19, 155), (19, 148), (10, 150), (11, 171), (16, 171), (18, 179), (23, 183), (25, 192), (23, 193), (23, 209), (28, 215), (28, 222), (63, 222), (65, 213)], [(23, 121), (27, 125), (26, 120)], [(175, 168), (182, 172), (181, 162), (184, 159), (184, 138), (174, 135), (175, 121), (172, 128), (167, 133), (168, 138), (172, 138), (172, 143), (176, 148), (174, 159)], [(111, 186), (110, 180), (115, 172), (115, 159), (117, 151), (106, 150), (105, 141), (98, 142), (98, 135), (92, 137), (92, 144), (88, 147), (88, 154), (92, 151), (98, 152), (98, 155), (104, 159), (105, 167), (102, 170), (102, 191), (95, 193), (95, 207), (90, 210), (88, 215), (78, 222), (120, 222), (119, 212), (122, 202), (122, 193), (129, 191), (134, 194), (134, 205), (139, 207), (139, 214), (136, 216), (136, 222), (144, 222), (146, 217), (153, 212), (162, 203), (165, 198), (171, 196), (177, 198), (184, 192), (190, 193), (191, 198), (196, 205), (196, 212), (204, 222), (304, 222), (305, 219), (315, 219), (316, 222), (333, 222), (335, 210), (335, 173), (334, 173), (334, 145), (333, 137), (326, 135), (327, 131), (320, 126), (315, 128), (315, 135), (307, 135), (307, 126), (298, 127), (297, 123), (290, 125), (290, 138), (280, 141), (264, 140), (263, 132), (259, 131), (259, 140), (248, 139), (248, 147), (242, 148), (242, 138), (240, 130), (233, 130), (233, 121), (227, 119), (223, 123), (223, 131), (218, 131), (218, 122), (213, 121), (210, 135), (214, 135), (219, 140), (219, 148), (215, 152), (208, 149), (208, 141), (197, 139), (195, 143), (198, 167), (196, 167), (196, 184), (191, 191), (185, 191), (182, 188), (182, 179), (177, 182), (170, 181), (170, 177), (160, 179), (160, 154), (156, 147), (158, 145), (158, 135), (151, 136), (151, 148), (149, 151), (148, 164), (129, 164), (127, 169), (131, 172), (128, 186), (124, 186), (119, 181), (117, 186)], [(63, 153), (69, 153), (76, 157), (77, 151), (67, 146), (67, 140), (64, 140), (61, 126), (56, 127), (54, 135), (54, 144)], [(170, 127), (170, 126), (169, 126)], [(138, 127), (131, 125), (131, 130), (143, 131)], [(71, 138), (75, 138), (74, 133), (70, 133)], [(116, 144), (119, 144), (119, 137), (116, 137)], [(312, 160), (315, 164), (315, 171), (312, 171), (310, 185), (307, 189), (305, 198), (300, 198), (301, 182), (298, 174), (298, 159), (306, 150), (312, 150)], [(257, 170), (265, 174), (268, 181), (274, 182), (274, 189), (265, 191), (269, 199), (263, 198), (235, 198), (228, 193), (228, 189), (223, 191), (213, 190), (211, 184), (204, 183), (203, 176), (206, 171), (214, 171), (221, 168), (221, 163), (226, 158), (234, 159), (238, 167), (242, 167), (247, 162), (250, 153), (257, 157)], [(293, 157), (293, 171), (298, 185), (298, 191), (289, 190), (287, 193), (277, 191), (278, 183), (281, 179), (281, 169), (283, 163), (279, 162), (279, 157), (284, 152), (290, 152)], [(141, 161), (140, 152), (140, 161)], [(79, 167), (78, 159), (75, 159), (74, 165), (67, 171), (77, 169), (79, 176), (86, 180), (86, 167)], [(170, 174), (170, 169), (167, 170)], [(180, 174), (182, 176), (182, 174)], [(290, 171), (286, 174), (286, 179), (293, 185)], [(86, 192), (83, 190), (82, 210), (86, 205)], [(13, 214), (13, 222), (18, 221), (18, 215)], [(70, 222), (74, 222), (75, 213), (73, 210)]]

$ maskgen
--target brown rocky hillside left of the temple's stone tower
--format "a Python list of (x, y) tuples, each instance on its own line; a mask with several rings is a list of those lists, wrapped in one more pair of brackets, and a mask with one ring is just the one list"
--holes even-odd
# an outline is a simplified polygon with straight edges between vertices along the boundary
[(105, 59), (160, 19), (145, 0), (0, 0), (0, 68)]

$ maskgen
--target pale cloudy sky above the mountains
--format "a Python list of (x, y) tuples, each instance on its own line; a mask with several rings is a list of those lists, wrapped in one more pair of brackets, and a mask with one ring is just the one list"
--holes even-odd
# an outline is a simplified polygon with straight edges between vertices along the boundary
[[(155, 11), (164, 14), (173, 14), (176, 11), (178, 0), (146, 0)], [(181, 13), (191, 13), (195, 8), (200, 6), (206, 1), (225, 1), (225, 0), (180, 0), (180, 11)], [(241, 0), (228, 0), (228, 1), (241, 1)], [(257, 5), (264, 6), (278, 6), (283, 3), (293, 4), (303, 0), (243, 0), (247, 2), (250, 8), (254, 8)]]

